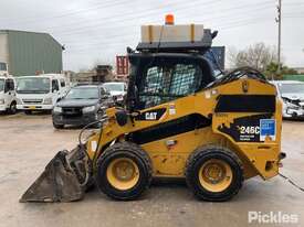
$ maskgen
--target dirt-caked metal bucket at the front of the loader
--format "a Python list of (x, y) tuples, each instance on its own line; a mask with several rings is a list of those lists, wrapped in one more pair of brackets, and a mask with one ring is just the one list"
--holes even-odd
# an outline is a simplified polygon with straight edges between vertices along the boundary
[[(71, 162), (70, 158), (75, 155), (80, 148), (72, 152), (60, 151), (46, 165), (44, 172), (29, 187), (20, 198), (24, 202), (73, 202), (80, 201), (84, 196), (84, 187), (80, 183), (80, 171), (75, 169), (75, 160)], [(84, 163), (83, 158), (77, 158), (77, 163)], [(77, 164), (78, 165), (78, 164)], [(82, 172), (84, 167), (82, 167)], [(85, 173), (86, 174), (86, 173)]]

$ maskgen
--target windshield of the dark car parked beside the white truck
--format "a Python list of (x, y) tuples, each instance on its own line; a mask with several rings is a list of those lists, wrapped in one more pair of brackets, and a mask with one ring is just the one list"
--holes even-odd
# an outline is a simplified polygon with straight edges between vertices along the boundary
[(65, 96), (66, 99), (98, 99), (98, 88), (96, 87), (74, 87)]

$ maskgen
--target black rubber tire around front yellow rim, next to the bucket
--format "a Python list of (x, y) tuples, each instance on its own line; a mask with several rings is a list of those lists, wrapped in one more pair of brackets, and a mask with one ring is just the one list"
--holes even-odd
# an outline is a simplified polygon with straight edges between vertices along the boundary
[[(111, 185), (106, 171), (109, 163), (118, 158), (132, 159), (138, 166), (139, 180), (129, 190), (118, 190)], [(139, 197), (151, 183), (153, 167), (149, 155), (137, 144), (130, 142), (118, 142), (107, 148), (97, 161), (96, 185), (108, 197), (118, 201), (132, 201)]]

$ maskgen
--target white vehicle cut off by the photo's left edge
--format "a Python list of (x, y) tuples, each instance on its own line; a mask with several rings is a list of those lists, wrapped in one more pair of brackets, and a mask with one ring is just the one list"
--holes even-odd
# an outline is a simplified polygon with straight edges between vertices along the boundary
[(0, 76), (0, 111), (17, 111), (15, 83), (12, 76)]

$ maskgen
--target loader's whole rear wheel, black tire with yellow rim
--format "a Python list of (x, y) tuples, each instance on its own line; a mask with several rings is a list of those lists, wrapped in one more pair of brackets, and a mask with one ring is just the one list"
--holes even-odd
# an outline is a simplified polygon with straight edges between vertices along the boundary
[(197, 149), (187, 161), (186, 181), (200, 199), (228, 201), (242, 187), (242, 163), (229, 149), (202, 147)]

